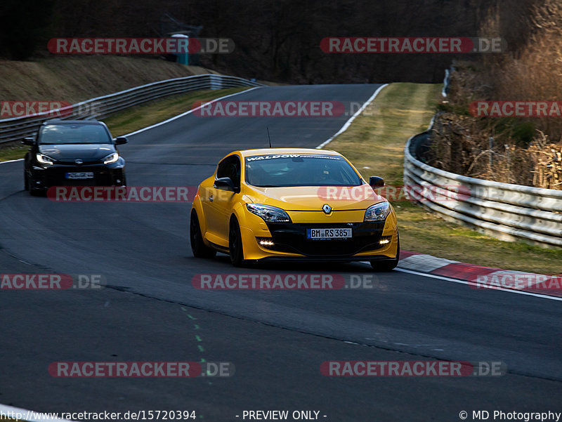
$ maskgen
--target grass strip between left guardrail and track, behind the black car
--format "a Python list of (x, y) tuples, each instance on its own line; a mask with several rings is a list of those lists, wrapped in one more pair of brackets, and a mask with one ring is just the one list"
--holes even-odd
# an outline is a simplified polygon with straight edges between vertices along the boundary
[[(163, 100), (153, 101), (113, 114), (103, 121), (110, 128), (113, 136), (122, 136), (186, 112), (198, 101), (210, 101), (246, 89), (248, 87), (218, 90), (202, 89), (181, 95), (172, 95)], [(29, 150), (29, 147), (17, 144), (0, 147), (0, 161), (23, 158), (27, 150)]]

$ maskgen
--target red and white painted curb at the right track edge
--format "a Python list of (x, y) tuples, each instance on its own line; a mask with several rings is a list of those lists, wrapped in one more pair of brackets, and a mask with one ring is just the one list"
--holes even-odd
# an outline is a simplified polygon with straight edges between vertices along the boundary
[(474, 289), (524, 291), (562, 298), (562, 275), (483, 267), (411, 251), (400, 251), (398, 269), (463, 280)]

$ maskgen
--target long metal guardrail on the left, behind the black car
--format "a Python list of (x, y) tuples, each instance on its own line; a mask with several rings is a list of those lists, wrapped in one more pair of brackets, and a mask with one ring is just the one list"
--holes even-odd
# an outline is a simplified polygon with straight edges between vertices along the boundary
[(135, 88), (126, 89), (103, 97), (92, 98), (49, 112), (41, 112), (31, 116), (13, 117), (0, 120), (0, 144), (21, 140), (25, 136), (34, 135), (37, 128), (46, 119), (103, 119), (109, 114), (143, 104), (157, 98), (195, 91), (197, 89), (236, 88), (238, 86), (265, 86), (259, 82), (221, 74), (200, 74), (190, 77), (166, 79)]

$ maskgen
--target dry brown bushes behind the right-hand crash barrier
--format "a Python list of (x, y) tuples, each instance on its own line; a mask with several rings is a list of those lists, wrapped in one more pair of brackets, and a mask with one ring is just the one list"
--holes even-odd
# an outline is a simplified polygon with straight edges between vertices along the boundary
[[(517, 10), (517, 9), (516, 9)], [(482, 62), (456, 62), (447, 101), (433, 132), (434, 166), (466, 176), (562, 190), (560, 117), (473, 117), (475, 100), (560, 101), (562, 92), (562, 4), (534, 1), (514, 16), (492, 9), (481, 34), (499, 37), (502, 22), (520, 22), (526, 37), (509, 52)], [(493, 143), (490, 143), (493, 138)]]

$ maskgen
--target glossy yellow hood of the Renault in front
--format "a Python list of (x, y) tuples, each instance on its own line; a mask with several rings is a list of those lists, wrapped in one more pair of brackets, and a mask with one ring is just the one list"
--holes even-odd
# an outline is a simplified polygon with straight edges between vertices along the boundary
[(287, 211), (322, 211), (324, 204), (331, 206), (334, 211), (367, 209), (372, 204), (386, 201), (369, 185), (355, 187), (251, 186), (246, 195), (254, 203), (277, 206)]

